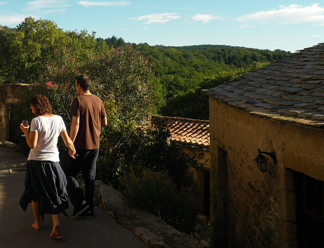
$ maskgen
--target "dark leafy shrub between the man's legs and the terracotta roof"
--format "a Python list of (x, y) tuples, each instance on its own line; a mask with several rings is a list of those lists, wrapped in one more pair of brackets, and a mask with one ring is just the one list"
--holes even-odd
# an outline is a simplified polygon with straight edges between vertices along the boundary
[(198, 163), (200, 153), (187, 154), (168, 141), (170, 132), (164, 125), (141, 129), (129, 123), (112, 130), (106, 137), (101, 145), (97, 175), (114, 187), (118, 186), (118, 177), (128, 173), (130, 166), (139, 166), (167, 173), (180, 190), (194, 183), (191, 168), (200, 170), (204, 167)]

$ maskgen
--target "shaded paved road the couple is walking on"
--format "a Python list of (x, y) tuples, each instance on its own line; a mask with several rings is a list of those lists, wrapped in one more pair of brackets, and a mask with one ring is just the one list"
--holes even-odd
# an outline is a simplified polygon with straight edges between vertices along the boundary
[[(42, 231), (31, 228), (34, 222), (31, 206), (24, 212), (19, 199), (24, 190), (24, 172), (10, 173), (25, 163), (26, 157), (0, 147), (0, 247), (148, 247), (135, 234), (108, 217), (100, 208), (95, 208), (92, 219), (72, 219), (59, 216), (60, 240), (50, 239), (52, 218), (45, 215)], [(72, 215), (73, 207), (67, 210)]]

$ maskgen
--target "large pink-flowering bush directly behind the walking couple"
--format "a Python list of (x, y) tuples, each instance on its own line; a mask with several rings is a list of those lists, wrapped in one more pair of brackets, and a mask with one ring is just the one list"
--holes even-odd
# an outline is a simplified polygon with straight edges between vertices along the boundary
[[(48, 59), (46, 72), (40, 74), (22, 97), (23, 100), (15, 106), (17, 125), (21, 121), (18, 113), (23, 109), (26, 110), (24, 116), (32, 118), (28, 114), (31, 96), (44, 94), (52, 104), (53, 113), (62, 116), (69, 130), (70, 104), (76, 96), (74, 78), (82, 73), (91, 77), (90, 90), (102, 98), (107, 112), (109, 127), (102, 131), (102, 144), (109, 142), (120, 126), (139, 121), (143, 113), (149, 111), (152, 102), (152, 72), (132, 47), (110, 50), (100, 57), (92, 54), (81, 62), (68, 47), (57, 48), (54, 52)], [(59, 145), (63, 146), (63, 142)]]

